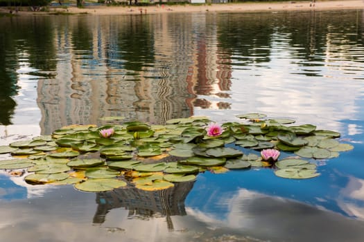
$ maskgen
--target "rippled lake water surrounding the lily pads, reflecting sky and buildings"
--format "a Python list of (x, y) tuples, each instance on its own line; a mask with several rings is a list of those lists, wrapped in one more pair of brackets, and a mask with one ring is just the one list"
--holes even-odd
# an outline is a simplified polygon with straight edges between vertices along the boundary
[[(363, 10), (0, 17), (0, 145), (107, 116), (242, 113), (341, 133), (317, 178), (205, 172), (100, 194), (0, 174), (0, 241), (363, 241)], [(7, 158), (1, 156), (1, 158)]]

